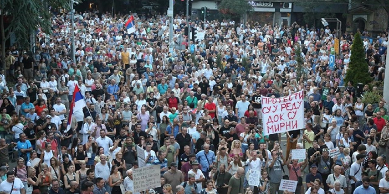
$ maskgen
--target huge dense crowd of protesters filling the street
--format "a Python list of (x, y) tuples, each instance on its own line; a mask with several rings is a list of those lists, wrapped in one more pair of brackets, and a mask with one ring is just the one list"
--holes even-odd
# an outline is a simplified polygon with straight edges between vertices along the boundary
[[(189, 25), (205, 37), (187, 44), (186, 18), (177, 15), (179, 47), (169, 49), (166, 15), (132, 16), (136, 31), (128, 34), (129, 15), (80, 12), (76, 61), (69, 14), (53, 16), (50, 39), (37, 33), (32, 50), (7, 49), (0, 70), (0, 191), (140, 194), (133, 184), (139, 146), (146, 166), (161, 165), (161, 187), (143, 194), (389, 193), (385, 102), (375, 109), (363, 104), (354, 83), (344, 81), (352, 33), (340, 38), (330, 71), (337, 32), (328, 27), (196, 18)], [(385, 76), (387, 36), (364, 40), (377, 81)], [(296, 73), (299, 65), (305, 76)], [(71, 114), (69, 130), (76, 87), (86, 107)], [(305, 128), (265, 135), (261, 96), (300, 90)], [(362, 92), (368, 91), (366, 85)], [(330, 158), (336, 147), (340, 156)], [(292, 149), (305, 149), (307, 158), (292, 159)], [(249, 185), (251, 170), (260, 172), (258, 185)], [(280, 191), (282, 179), (297, 181), (296, 191)]]

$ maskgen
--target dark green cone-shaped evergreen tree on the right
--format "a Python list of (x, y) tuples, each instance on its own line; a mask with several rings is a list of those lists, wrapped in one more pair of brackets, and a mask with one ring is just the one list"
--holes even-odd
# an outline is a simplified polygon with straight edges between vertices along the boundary
[(356, 33), (354, 36), (354, 42), (351, 45), (351, 57), (349, 68), (347, 69), (345, 83), (353, 81), (354, 85), (358, 82), (363, 85), (372, 81), (369, 74), (369, 66), (365, 61), (365, 54), (363, 51), (363, 43), (361, 34)]

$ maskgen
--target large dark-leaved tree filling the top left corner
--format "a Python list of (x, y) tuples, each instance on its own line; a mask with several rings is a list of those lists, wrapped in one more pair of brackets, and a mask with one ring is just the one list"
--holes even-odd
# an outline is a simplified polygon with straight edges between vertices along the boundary
[[(79, 0), (78, 0), (79, 1)], [(21, 48), (29, 47), (30, 36), (39, 28), (51, 33), (51, 10), (70, 7), (70, 0), (0, 0), (1, 56), (5, 69), (5, 42), (13, 33)], [(9, 26), (4, 28), (4, 17)]]

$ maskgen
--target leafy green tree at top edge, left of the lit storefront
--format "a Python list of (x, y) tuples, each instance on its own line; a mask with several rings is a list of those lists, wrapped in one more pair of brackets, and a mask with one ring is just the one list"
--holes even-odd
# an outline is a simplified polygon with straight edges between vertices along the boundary
[(219, 12), (224, 18), (240, 21), (240, 17), (254, 10), (247, 0), (222, 0), (219, 4)]

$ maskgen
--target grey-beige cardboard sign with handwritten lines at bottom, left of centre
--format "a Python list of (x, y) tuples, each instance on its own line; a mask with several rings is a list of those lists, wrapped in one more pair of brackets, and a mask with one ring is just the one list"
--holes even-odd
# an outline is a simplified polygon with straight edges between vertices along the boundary
[(161, 165), (133, 169), (134, 192), (161, 187)]

